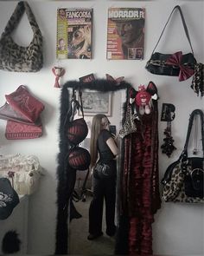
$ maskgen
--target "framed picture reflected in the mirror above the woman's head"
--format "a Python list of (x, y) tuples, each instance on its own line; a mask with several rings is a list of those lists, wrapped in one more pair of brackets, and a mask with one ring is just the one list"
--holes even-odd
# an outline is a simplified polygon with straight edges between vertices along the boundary
[[(78, 95), (79, 97), (79, 95)], [(112, 115), (112, 93), (84, 90), (82, 92), (84, 115)], [(78, 112), (81, 115), (81, 111)]]

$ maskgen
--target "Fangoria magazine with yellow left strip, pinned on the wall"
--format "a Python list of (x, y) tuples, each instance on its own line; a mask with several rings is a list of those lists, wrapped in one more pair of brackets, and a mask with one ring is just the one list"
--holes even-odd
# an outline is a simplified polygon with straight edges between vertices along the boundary
[(92, 58), (92, 9), (57, 10), (56, 56), (59, 59)]

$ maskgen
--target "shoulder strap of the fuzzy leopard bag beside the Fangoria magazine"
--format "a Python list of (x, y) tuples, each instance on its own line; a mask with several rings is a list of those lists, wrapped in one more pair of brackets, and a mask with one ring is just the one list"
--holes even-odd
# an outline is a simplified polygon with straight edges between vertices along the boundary
[(16, 29), (16, 26), (20, 22), (20, 19), (24, 12), (26, 12), (28, 16), (29, 24), (33, 32), (34, 33), (37, 32), (41, 34), (41, 30), (39, 29), (38, 24), (36, 23), (35, 16), (29, 7), (29, 3), (25, 1), (21, 1), (17, 3), (16, 9), (14, 10), (13, 14), (10, 16), (10, 20), (4, 29), (4, 35), (10, 35), (11, 32)]

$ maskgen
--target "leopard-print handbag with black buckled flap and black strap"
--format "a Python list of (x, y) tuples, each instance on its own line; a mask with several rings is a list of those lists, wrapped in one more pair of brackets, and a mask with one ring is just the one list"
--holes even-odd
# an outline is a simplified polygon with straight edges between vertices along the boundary
[[(194, 117), (201, 117), (202, 157), (188, 157), (188, 141)], [(173, 202), (204, 202), (204, 114), (195, 109), (190, 115), (187, 139), (181, 156), (167, 168), (162, 184), (163, 199)]]

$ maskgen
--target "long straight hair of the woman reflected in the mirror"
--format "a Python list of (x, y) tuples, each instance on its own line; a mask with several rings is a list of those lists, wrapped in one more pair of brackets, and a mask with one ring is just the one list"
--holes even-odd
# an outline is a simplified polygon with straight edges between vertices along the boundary
[(98, 158), (97, 139), (102, 129), (101, 120), (106, 117), (104, 114), (94, 115), (92, 118), (90, 154), (91, 154), (91, 168), (95, 165)]

